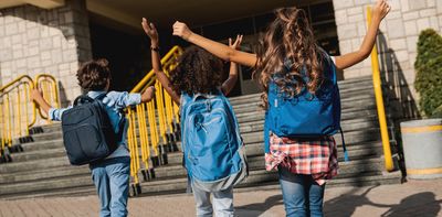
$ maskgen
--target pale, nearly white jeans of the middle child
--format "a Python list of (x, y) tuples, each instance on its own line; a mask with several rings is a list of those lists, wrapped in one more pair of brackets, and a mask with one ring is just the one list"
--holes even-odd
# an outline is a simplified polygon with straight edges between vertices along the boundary
[[(210, 192), (199, 189), (192, 185), (194, 204), (197, 206), (198, 217), (212, 217), (213, 208), (210, 203)], [(214, 216), (217, 217), (233, 217), (233, 187), (220, 192), (212, 192)]]

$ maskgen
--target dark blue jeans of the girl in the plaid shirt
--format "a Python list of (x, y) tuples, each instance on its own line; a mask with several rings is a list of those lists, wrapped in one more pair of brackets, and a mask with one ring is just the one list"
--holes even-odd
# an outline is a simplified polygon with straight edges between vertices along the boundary
[(324, 185), (318, 185), (312, 175), (291, 173), (278, 166), (280, 184), (287, 217), (322, 217)]

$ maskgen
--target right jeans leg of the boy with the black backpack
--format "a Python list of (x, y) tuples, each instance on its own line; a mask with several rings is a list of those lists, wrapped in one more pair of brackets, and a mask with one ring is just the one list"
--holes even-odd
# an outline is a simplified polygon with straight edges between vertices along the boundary
[(127, 198), (129, 196), (130, 158), (109, 160), (106, 172), (110, 185), (110, 215), (127, 216)]

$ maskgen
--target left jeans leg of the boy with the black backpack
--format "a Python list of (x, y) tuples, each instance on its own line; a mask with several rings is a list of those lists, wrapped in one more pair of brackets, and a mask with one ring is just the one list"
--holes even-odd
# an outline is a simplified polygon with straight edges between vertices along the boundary
[(98, 164), (91, 166), (92, 170), (92, 181), (94, 182), (95, 188), (99, 198), (99, 216), (109, 217), (110, 216), (110, 188), (109, 178), (106, 173), (104, 165)]

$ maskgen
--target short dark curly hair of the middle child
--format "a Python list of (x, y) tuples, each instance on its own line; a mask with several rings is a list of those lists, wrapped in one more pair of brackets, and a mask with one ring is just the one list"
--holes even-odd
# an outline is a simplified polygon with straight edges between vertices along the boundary
[(206, 50), (189, 46), (170, 73), (170, 83), (176, 93), (209, 94), (222, 84), (223, 63)]

